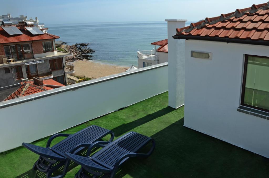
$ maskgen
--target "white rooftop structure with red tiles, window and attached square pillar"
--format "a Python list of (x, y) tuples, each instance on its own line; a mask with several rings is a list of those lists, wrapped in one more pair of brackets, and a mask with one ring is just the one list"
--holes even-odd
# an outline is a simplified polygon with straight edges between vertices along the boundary
[(267, 158), (268, 9), (253, 5), (188, 27), (166, 20), (169, 106), (185, 104), (184, 126)]

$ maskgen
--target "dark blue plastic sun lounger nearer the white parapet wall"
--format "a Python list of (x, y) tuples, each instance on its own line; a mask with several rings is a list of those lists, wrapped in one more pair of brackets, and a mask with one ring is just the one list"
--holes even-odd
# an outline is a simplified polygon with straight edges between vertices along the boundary
[[(40, 155), (39, 159), (33, 165), (33, 169), (45, 172), (49, 178), (55, 170), (65, 165), (62, 175), (54, 176), (54, 178), (61, 178), (66, 175), (70, 163), (70, 160), (66, 158), (65, 153), (76, 154), (83, 148), (90, 147), (93, 142), (101, 140), (109, 134), (111, 135), (111, 138), (108, 142), (111, 142), (114, 139), (114, 133), (111, 130), (92, 125), (72, 135), (57, 133), (49, 138), (46, 148), (29, 143), (22, 143), (22, 145), (30, 151)], [(54, 146), (49, 147), (51, 141), (56, 137), (67, 138)], [(59, 163), (56, 164), (57, 162)]]

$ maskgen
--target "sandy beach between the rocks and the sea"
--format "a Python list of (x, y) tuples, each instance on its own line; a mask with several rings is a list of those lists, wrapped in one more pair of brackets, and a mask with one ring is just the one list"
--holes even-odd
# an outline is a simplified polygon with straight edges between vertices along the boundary
[(72, 62), (72, 64), (74, 64), (75, 67), (75, 73), (72, 75), (81, 77), (85, 76), (92, 79), (112, 74), (118, 74), (125, 72), (128, 69), (128, 67), (102, 64), (88, 60), (77, 60)]

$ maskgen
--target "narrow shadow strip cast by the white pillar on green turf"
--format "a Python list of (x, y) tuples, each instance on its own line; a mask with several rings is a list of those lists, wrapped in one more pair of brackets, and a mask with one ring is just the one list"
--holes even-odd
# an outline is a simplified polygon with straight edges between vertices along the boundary
[(174, 110), (175, 110), (174, 108), (167, 106), (166, 108), (163, 108), (163, 109), (156, 111), (152, 114), (148, 114), (148, 115), (141, 117), (139, 119), (136, 119), (132, 122), (119, 125), (118, 127), (112, 129), (112, 131), (114, 132), (115, 137), (121, 136), (122, 134), (129, 132), (130, 130), (132, 130), (140, 125), (143, 125), (147, 122), (150, 122), (150, 121), (152, 121), (158, 117), (161, 117), (165, 114), (168, 114), (169, 112), (172, 112)]

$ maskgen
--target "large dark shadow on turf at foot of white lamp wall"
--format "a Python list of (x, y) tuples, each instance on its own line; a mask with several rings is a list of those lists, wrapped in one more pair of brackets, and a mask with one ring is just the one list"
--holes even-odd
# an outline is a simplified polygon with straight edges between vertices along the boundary
[(153, 154), (130, 159), (121, 173), (141, 177), (268, 177), (269, 159), (183, 126), (155, 133)]

